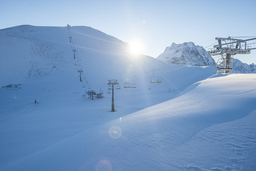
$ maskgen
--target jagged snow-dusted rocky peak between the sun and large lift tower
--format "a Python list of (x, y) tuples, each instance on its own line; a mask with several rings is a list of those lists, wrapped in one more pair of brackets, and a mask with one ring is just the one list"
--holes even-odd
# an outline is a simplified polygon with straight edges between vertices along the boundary
[(195, 46), (193, 42), (182, 44), (172, 43), (157, 59), (165, 63), (182, 64), (185, 66), (215, 66), (212, 56), (201, 46)]

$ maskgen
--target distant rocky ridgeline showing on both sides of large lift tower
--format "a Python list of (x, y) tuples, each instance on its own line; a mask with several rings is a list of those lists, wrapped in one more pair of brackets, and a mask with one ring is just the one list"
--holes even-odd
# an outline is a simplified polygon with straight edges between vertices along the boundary
[[(182, 44), (172, 43), (157, 59), (165, 63), (181, 64), (184, 66), (216, 66), (215, 60), (202, 46), (195, 46), (193, 42)], [(233, 59), (233, 70), (241, 73), (256, 73), (255, 64), (242, 63)]]

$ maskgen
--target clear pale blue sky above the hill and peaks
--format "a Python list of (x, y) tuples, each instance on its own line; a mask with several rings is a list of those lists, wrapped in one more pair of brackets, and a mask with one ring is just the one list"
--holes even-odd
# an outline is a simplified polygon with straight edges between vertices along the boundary
[[(142, 53), (156, 58), (173, 42), (207, 47), (217, 42), (216, 37), (256, 36), (255, 9), (252, 0), (2, 0), (0, 28), (90, 26), (127, 43), (139, 39)], [(256, 50), (234, 58), (256, 63)]]

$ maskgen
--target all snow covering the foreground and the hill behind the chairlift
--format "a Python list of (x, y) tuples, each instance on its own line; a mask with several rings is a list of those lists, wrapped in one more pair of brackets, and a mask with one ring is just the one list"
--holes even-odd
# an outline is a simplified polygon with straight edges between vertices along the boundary
[[(0, 170), (256, 168), (256, 74), (133, 57), (103, 32), (70, 31), (74, 44), (67, 27), (0, 31)], [(127, 78), (137, 88), (115, 89), (110, 112), (108, 79)], [(88, 86), (104, 98), (82, 98)]]

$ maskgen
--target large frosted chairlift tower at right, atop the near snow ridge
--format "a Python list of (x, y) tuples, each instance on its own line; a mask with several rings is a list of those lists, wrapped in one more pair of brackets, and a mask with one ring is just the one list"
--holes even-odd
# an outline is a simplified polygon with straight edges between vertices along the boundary
[(256, 38), (242, 40), (230, 38), (216, 38), (218, 40), (218, 45), (213, 46), (214, 48), (208, 51), (211, 56), (221, 55), (216, 63), (217, 72), (231, 74), (233, 55), (237, 54), (250, 54), (251, 50), (256, 48), (251, 48), (246, 45), (246, 41), (254, 40)]

